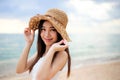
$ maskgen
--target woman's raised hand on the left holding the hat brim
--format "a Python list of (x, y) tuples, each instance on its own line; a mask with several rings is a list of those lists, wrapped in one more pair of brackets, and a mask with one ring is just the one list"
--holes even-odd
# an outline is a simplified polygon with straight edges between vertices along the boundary
[(25, 36), (25, 40), (28, 44), (32, 44), (34, 41), (34, 35), (35, 35), (35, 31), (31, 30), (30, 28), (25, 28), (24, 29), (24, 36)]

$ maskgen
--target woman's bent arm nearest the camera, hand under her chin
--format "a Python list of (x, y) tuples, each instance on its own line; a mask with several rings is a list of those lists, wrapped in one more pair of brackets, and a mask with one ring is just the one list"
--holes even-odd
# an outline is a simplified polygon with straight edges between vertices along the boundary
[[(48, 53), (44, 56), (45, 59), (38, 70), (36, 80), (50, 80), (58, 71), (63, 68), (67, 61), (67, 53), (64, 50), (68, 46), (67, 44), (60, 45), (62, 43), (63, 41), (53, 44)], [(56, 51), (59, 51), (59, 53), (51, 65), (53, 55)]]

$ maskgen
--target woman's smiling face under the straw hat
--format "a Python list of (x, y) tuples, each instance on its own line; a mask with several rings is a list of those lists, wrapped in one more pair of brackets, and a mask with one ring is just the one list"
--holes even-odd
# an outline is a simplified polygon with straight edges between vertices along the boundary
[(57, 41), (57, 31), (49, 21), (45, 21), (40, 34), (46, 46), (51, 46)]

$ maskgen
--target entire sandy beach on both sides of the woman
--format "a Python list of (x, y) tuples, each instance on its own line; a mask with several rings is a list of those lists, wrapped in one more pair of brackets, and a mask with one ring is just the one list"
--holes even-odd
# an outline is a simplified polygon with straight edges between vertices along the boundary
[[(63, 71), (58, 80), (120, 80), (120, 60), (112, 60), (101, 63), (90, 63), (71, 69), (68, 79)], [(0, 80), (29, 80), (29, 74), (16, 74), (3, 77)]]

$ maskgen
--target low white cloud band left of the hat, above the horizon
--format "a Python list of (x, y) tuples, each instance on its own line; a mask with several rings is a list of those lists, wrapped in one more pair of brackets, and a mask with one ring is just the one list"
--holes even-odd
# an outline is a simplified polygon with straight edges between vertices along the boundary
[(23, 33), (27, 24), (18, 19), (0, 19), (0, 33)]

